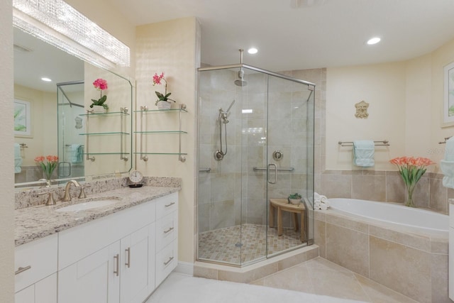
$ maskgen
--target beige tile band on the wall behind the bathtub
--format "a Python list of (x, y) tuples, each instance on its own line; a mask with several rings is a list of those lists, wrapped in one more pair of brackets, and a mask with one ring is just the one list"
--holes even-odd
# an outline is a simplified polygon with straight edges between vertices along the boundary
[[(397, 171), (325, 170), (321, 174), (319, 194), (329, 198), (365, 199), (403, 204), (406, 189)], [(316, 190), (317, 192), (317, 190)], [(426, 172), (413, 194), (416, 207), (448, 214), (448, 199), (454, 190), (443, 187), (443, 174)]]

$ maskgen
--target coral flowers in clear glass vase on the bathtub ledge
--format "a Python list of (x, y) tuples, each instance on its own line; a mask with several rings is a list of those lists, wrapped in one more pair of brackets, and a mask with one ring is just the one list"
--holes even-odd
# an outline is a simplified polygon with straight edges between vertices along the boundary
[(404, 180), (406, 185), (408, 198), (405, 205), (414, 207), (413, 191), (416, 187), (416, 183), (418, 183), (419, 179), (424, 175), (424, 172), (426, 172), (426, 166), (435, 164), (435, 162), (423, 157), (397, 157), (389, 160), (389, 162), (397, 165), (402, 180)]

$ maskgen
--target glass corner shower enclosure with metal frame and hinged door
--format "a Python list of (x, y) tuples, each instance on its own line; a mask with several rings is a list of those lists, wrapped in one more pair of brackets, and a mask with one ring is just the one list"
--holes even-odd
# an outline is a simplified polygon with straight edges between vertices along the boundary
[[(244, 64), (199, 69), (197, 260), (244, 266), (313, 243), (314, 93)], [(304, 211), (271, 218), (270, 200), (294, 193)]]

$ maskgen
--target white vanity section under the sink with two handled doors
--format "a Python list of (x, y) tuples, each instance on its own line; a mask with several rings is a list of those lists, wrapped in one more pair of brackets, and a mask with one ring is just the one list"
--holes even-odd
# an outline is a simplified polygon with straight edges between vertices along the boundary
[(157, 286), (157, 205), (177, 200), (170, 194), (60, 232), (58, 302), (143, 302)]

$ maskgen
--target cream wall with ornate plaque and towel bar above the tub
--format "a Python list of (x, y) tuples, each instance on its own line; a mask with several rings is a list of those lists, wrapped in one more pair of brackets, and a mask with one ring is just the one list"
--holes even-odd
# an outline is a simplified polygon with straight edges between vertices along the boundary
[[(405, 152), (404, 63), (328, 68), (326, 71), (326, 169), (355, 170), (352, 148), (338, 141), (389, 140), (390, 148), (376, 148), (375, 170), (392, 168), (387, 162)], [(367, 119), (355, 117), (355, 104), (369, 104)]]

